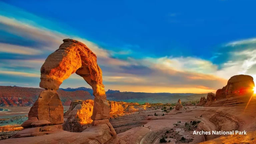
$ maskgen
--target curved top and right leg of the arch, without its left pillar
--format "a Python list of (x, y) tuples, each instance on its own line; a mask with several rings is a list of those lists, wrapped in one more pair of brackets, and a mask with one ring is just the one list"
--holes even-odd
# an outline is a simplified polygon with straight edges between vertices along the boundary
[(109, 118), (109, 106), (102, 84), (102, 71), (97, 64), (96, 55), (83, 43), (64, 39), (59, 49), (50, 54), (41, 67), (40, 87), (59, 89), (63, 80), (76, 73), (92, 87), (94, 110), (92, 119)]

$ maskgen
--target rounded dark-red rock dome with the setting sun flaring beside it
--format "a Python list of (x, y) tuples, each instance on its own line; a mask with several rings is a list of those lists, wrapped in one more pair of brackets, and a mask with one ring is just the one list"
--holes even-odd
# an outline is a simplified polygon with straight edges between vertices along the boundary
[(216, 91), (216, 100), (235, 96), (251, 97), (255, 84), (249, 75), (232, 76), (225, 87)]

